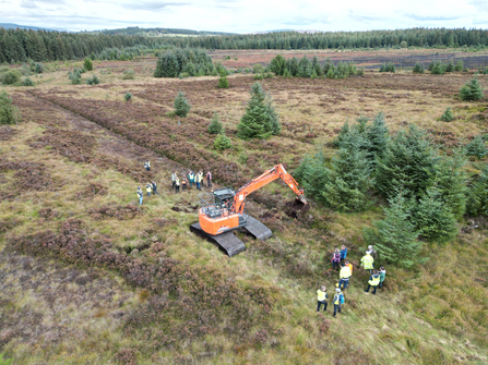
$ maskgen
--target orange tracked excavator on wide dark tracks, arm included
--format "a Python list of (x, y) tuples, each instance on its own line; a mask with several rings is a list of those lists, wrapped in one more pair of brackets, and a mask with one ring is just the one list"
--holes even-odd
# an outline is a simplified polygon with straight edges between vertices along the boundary
[(246, 215), (243, 208), (249, 194), (277, 179), (282, 179), (297, 194), (294, 203), (295, 211), (306, 211), (310, 208), (303, 191), (298, 188), (295, 179), (286, 172), (283, 165), (276, 165), (237, 192), (222, 187), (214, 190), (212, 194), (199, 195), (201, 205), (199, 222), (190, 226), (191, 231), (216, 243), (229, 257), (246, 250), (243, 242), (234, 234), (236, 230), (250, 233), (255, 239), (269, 239), (272, 235), (271, 230), (259, 220)]

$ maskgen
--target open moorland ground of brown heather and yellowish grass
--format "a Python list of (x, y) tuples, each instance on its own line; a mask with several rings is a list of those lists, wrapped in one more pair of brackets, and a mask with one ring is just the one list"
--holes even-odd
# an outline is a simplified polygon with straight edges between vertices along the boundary
[[(379, 206), (338, 214), (312, 203), (290, 218), (293, 194), (270, 184), (247, 211), (273, 238), (239, 233), (248, 250), (229, 259), (189, 232), (197, 191), (176, 195), (169, 183), (189, 168), (211, 169), (233, 187), (276, 162), (293, 172), (317, 147), (332, 155), (345, 121), (379, 111), (392, 133), (416, 123), (449, 153), (487, 129), (486, 99), (456, 99), (471, 74), (267, 78), (283, 132), (241, 142), (235, 133), (252, 76), (229, 76), (228, 89), (217, 77), (154, 80), (155, 60), (143, 59), (131, 62), (135, 80), (122, 81), (127, 63), (94, 62), (83, 77), (96, 73), (96, 86), (70, 85), (58, 71), (31, 90), (5, 88), (22, 122), (0, 127), (0, 353), (15, 364), (488, 362), (485, 219), (449, 244), (427, 245), (424, 266), (386, 267), (385, 288), (372, 296), (362, 293), (358, 260), (361, 227), (381, 218)], [(185, 119), (167, 115), (178, 90), (192, 104)], [(438, 121), (448, 107), (455, 120)], [(213, 150), (214, 111), (234, 149)], [(139, 207), (136, 186), (151, 180), (160, 196)], [(332, 318), (330, 308), (314, 312), (316, 290), (324, 283), (331, 296), (330, 253), (341, 244), (355, 270), (343, 314)]]

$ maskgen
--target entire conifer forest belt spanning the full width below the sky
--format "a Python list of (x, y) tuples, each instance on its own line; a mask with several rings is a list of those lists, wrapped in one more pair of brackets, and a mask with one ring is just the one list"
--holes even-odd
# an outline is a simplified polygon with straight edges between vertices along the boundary
[[(135, 29), (135, 28), (134, 28)], [(138, 28), (139, 29), (139, 28)], [(135, 32), (135, 31), (134, 31)], [(0, 62), (73, 60), (97, 54), (105, 49), (134, 46), (150, 48), (191, 47), (206, 49), (331, 49), (380, 47), (463, 47), (488, 46), (488, 31), (410, 28), (398, 31), (334, 32), (198, 37), (147, 37), (0, 28)]]

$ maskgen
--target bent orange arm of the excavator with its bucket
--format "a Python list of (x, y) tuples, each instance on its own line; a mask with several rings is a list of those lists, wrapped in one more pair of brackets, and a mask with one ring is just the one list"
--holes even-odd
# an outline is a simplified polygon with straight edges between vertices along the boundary
[(284, 183), (288, 185), (295, 192), (295, 194), (297, 194), (297, 199), (299, 202), (305, 205), (308, 204), (303, 195), (303, 190), (298, 188), (298, 183), (295, 181), (295, 179), (288, 172), (286, 172), (283, 165), (276, 165), (274, 168), (264, 171), (260, 177), (250, 181), (237, 191), (234, 197), (233, 210), (238, 214), (242, 214), (246, 197), (258, 188), (263, 187), (264, 185), (267, 185), (269, 183), (277, 179), (282, 179)]

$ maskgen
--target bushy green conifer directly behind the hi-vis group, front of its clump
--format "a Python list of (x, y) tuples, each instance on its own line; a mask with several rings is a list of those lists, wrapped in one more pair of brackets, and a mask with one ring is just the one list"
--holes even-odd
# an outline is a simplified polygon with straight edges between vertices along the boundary
[(384, 219), (373, 222), (373, 228), (365, 228), (366, 243), (374, 245), (380, 259), (402, 267), (421, 263), (421, 242), (418, 232), (409, 221), (409, 206), (402, 191), (389, 199), (383, 208)]

